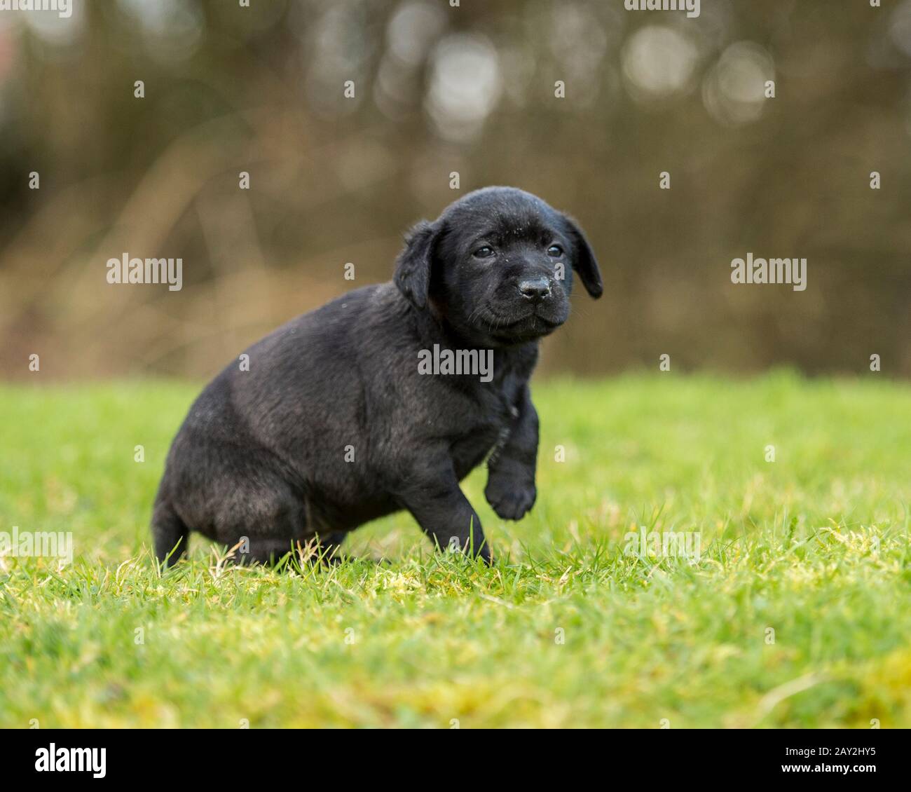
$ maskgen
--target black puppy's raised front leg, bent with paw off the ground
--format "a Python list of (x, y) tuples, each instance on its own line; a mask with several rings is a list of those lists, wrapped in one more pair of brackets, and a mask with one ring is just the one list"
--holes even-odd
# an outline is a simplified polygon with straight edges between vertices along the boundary
[(537, 412), (527, 386), (517, 410), (509, 437), (487, 462), (484, 497), (502, 519), (521, 519), (537, 498)]

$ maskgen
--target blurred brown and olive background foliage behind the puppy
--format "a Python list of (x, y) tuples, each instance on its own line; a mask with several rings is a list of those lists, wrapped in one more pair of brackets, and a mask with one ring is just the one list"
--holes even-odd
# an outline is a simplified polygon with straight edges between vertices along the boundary
[[(8, 380), (212, 375), (489, 184), (599, 256), (546, 373), (911, 376), (911, 0), (73, 0), (0, 12), (0, 140)], [(182, 290), (107, 283), (124, 252)]]

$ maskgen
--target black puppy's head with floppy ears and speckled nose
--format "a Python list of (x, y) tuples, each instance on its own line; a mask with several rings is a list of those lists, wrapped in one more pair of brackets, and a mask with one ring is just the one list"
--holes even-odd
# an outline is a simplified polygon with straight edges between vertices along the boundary
[(394, 282), (476, 345), (505, 346), (566, 322), (574, 271), (601, 296), (598, 262), (574, 221), (530, 193), (487, 187), (412, 229)]

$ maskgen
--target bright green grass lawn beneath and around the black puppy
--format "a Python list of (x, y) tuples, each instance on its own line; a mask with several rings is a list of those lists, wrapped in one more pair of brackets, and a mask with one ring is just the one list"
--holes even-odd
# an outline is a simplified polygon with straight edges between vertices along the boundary
[[(911, 726), (911, 388), (534, 391), (531, 515), (497, 519), (483, 469), (465, 484), (492, 569), (399, 514), (331, 570), (235, 568), (194, 537), (159, 574), (150, 503), (197, 387), (0, 388), (0, 530), (77, 552), (0, 559), (0, 725)], [(624, 554), (640, 525), (700, 531), (701, 560)]]

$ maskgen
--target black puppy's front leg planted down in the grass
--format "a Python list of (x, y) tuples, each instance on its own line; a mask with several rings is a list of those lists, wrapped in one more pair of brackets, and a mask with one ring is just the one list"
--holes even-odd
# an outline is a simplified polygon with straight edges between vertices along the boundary
[(440, 550), (457, 548), (490, 563), (481, 520), (459, 489), (451, 462), (429, 465), (415, 473), (400, 497)]

